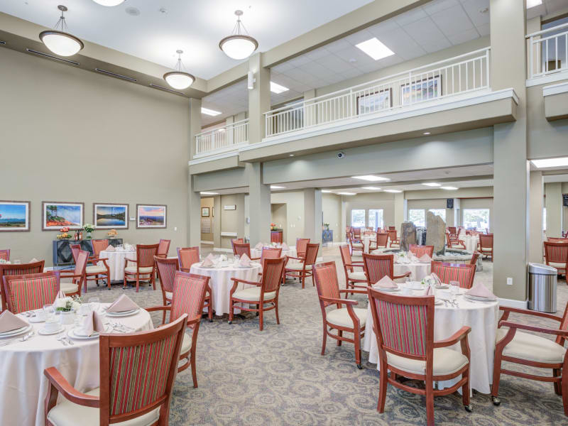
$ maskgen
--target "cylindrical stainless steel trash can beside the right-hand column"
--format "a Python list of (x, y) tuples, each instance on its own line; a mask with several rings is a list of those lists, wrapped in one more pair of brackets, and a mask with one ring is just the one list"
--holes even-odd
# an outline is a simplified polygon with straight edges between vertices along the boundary
[(528, 264), (528, 308), (539, 312), (556, 312), (558, 271), (542, 263)]

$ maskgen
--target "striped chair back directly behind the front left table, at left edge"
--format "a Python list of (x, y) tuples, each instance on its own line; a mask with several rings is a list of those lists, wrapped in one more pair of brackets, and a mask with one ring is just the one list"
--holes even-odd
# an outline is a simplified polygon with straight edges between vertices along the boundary
[(8, 310), (13, 314), (50, 305), (59, 293), (59, 271), (4, 276)]

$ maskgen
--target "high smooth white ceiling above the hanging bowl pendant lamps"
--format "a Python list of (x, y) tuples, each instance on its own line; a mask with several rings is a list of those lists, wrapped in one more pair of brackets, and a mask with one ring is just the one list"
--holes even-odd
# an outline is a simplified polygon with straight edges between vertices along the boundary
[[(175, 50), (182, 49), (187, 71), (209, 79), (239, 63), (218, 45), (233, 30), (236, 9), (244, 11), (242, 21), (258, 40), (258, 51), (266, 52), (370, 2), (129, 0), (105, 7), (92, 0), (3, 0), (0, 11), (52, 28), (58, 21), (58, 4), (65, 4), (69, 31), (77, 37), (166, 67), (175, 65)], [(140, 14), (126, 13), (131, 7)]]

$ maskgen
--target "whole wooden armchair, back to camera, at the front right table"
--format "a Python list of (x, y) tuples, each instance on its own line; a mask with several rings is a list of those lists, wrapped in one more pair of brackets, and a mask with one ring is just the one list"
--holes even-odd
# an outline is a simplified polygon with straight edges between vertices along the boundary
[[(469, 405), (469, 344), (471, 327), (461, 327), (451, 337), (434, 340), (434, 296), (393, 295), (367, 288), (373, 315), (381, 383), (377, 410), (385, 411), (389, 384), (426, 398), (426, 424), (434, 425), (434, 397), (449, 395), (461, 388), (466, 411)], [(447, 346), (461, 344), (461, 353)], [(388, 375), (388, 371), (391, 375)], [(424, 388), (408, 386), (396, 380), (403, 376), (424, 382)], [(434, 382), (461, 378), (453, 386), (435, 389)]]

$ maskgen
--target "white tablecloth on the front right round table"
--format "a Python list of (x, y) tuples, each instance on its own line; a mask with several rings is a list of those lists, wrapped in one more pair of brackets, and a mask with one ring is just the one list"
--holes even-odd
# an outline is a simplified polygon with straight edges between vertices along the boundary
[[(418, 294), (419, 292), (415, 293)], [(471, 327), (471, 332), (467, 336), (471, 351), (469, 366), (471, 389), (481, 393), (490, 393), (489, 386), (493, 381), (498, 302), (470, 302), (463, 296), (458, 296), (457, 302), (459, 307), (436, 305), (434, 340), (447, 339), (464, 325)], [(373, 315), (370, 305), (367, 307), (367, 314), (363, 350), (368, 351), (368, 361), (377, 364), (378, 370), (380, 366), (378, 364), (378, 347), (373, 332)], [(461, 353), (459, 344), (448, 347)], [(441, 389), (449, 388), (458, 381), (459, 377), (451, 381), (439, 382), (438, 387)]]

